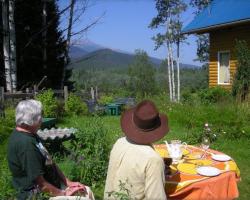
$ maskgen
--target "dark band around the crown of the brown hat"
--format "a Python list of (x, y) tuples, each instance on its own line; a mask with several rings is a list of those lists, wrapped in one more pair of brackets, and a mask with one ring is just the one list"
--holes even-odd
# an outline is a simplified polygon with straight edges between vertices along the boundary
[(133, 114), (132, 121), (138, 129), (144, 132), (152, 131), (161, 126), (161, 120), (160, 120), (159, 115), (149, 120), (142, 120), (139, 117), (137, 117), (135, 114)]

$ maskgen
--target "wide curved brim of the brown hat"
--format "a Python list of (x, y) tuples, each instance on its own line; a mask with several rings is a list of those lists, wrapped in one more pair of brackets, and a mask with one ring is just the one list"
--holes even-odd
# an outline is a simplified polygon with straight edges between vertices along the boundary
[(150, 144), (163, 138), (169, 131), (168, 118), (164, 114), (159, 114), (160, 126), (151, 130), (143, 131), (133, 122), (135, 108), (125, 111), (121, 117), (121, 128), (124, 134), (137, 144)]

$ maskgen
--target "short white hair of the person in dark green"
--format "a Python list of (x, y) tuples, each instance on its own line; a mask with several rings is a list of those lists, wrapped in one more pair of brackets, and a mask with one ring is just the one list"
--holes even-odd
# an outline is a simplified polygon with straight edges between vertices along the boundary
[(42, 119), (42, 103), (29, 99), (20, 101), (16, 107), (16, 125), (33, 126)]

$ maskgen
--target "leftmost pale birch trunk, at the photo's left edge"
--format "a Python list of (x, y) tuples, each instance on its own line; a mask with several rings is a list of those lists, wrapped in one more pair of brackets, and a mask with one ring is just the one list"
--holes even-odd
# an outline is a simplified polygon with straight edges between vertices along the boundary
[(3, 19), (3, 53), (4, 53), (4, 68), (6, 89), (12, 92), (11, 86), (11, 65), (10, 65), (10, 38), (9, 38), (9, 24), (8, 24), (8, 1), (2, 1), (2, 19)]

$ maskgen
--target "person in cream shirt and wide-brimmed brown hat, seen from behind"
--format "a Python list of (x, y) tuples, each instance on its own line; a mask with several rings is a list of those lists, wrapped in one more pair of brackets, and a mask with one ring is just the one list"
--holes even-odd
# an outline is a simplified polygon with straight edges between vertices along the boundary
[(138, 200), (167, 199), (164, 162), (151, 145), (168, 133), (167, 116), (159, 114), (152, 101), (144, 100), (123, 113), (121, 128), (125, 137), (112, 148), (104, 199), (119, 195)]

